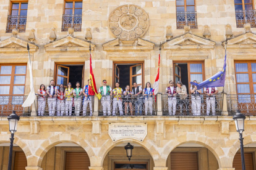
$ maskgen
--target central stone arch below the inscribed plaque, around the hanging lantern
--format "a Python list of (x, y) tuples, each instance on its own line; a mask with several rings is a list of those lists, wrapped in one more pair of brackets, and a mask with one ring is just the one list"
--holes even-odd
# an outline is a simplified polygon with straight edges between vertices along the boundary
[(151, 140), (145, 139), (143, 142), (140, 142), (139, 140), (134, 139), (121, 139), (117, 140), (116, 142), (113, 142), (111, 139), (105, 142), (100, 148), (100, 151), (98, 152), (98, 157), (101, 157), (100, 164), (97, 164), (96, 166), (103, 166), (103, 161), (105, 159), (105, 156), (108, 154), (108, 152), (114, 148), (116, 145), (122, 144), (122, 143), (134, 143), (139, 144), (143, 148), (145, 148), (148, 153), (150, 153), (155, 167), (165, 167), (166, 166), (166, 160), (165, 158), (162, 158), (158, 150), (156, 150), (155, 145)]

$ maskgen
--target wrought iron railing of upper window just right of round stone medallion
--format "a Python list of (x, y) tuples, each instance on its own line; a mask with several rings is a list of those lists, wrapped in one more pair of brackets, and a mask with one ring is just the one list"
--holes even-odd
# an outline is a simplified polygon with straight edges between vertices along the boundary
[(191, 29), (197, 28), (197, 12), (177, 12), (177, 29), (183, 29), (184, 25), (189, 25)]

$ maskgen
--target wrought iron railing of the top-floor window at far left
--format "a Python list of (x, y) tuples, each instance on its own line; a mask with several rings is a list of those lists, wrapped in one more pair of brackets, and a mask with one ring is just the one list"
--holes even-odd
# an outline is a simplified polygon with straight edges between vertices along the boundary
[(27, 23), (27, 15), (9, 15), (6, 27), (6, 33), (11, 33), (12, 29), (19, 29), (19, 32), (25, 32)]

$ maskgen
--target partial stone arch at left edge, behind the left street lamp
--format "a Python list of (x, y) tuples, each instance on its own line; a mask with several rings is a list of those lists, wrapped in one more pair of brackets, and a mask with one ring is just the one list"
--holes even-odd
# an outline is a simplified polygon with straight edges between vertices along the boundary
[[(0, 144), (10, 143), (10, 137), (11, 136), (9, 134), (1, 135), (0, 136)], [(31, 153), (28, 145), (22, 139), (20, 139), (19, 136), (14, 136), (14, 144), (18, 145), (23, 150), (23, 152), (26, 155), (27, 163), (28, 163), (28, 158), (32, 156), (32, 153)]]

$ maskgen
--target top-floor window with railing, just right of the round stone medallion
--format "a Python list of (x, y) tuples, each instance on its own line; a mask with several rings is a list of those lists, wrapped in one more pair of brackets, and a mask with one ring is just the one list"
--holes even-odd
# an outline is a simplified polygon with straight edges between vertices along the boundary
[(183, 29), (184, 25), (197, 28), (195, 0), (176, 0), (176, 12), (177, 29)]

